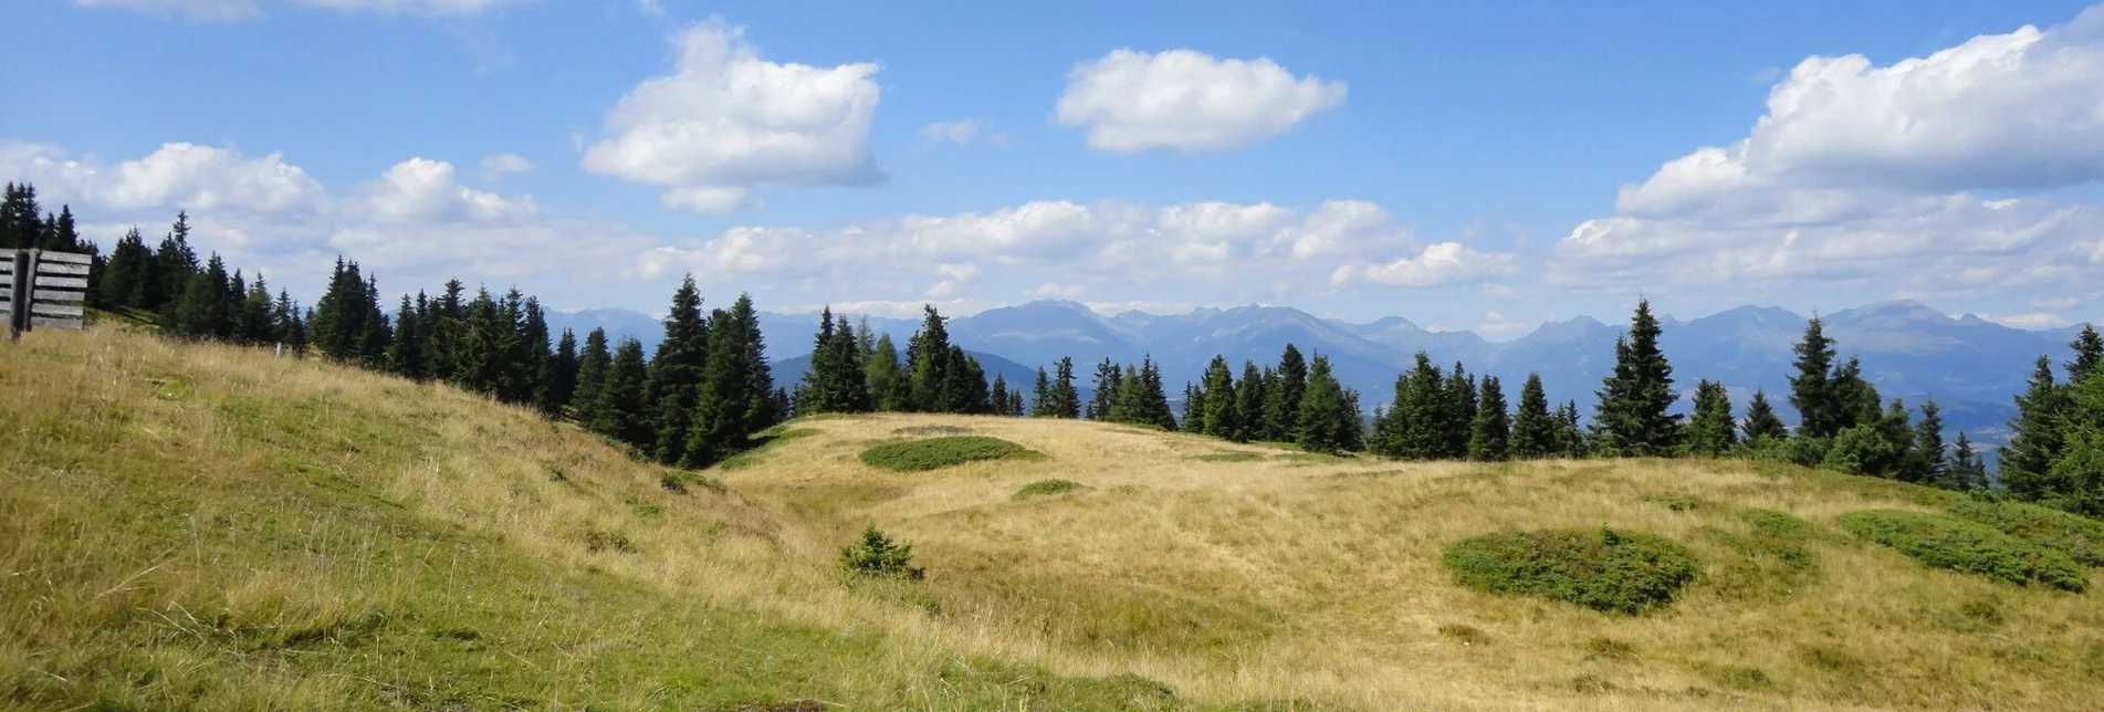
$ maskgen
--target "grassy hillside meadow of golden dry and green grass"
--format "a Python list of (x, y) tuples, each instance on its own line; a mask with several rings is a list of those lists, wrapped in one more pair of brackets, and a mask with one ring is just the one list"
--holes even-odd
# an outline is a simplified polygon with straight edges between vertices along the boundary
[[(861, 459), (930, 436), (1041, 457)], [(675, 472), (446, 388), (118, 329), (0, 345), (0, 708), (2047, 710), (2104, 693), (2096, 592), (1860, 543), (1841, 514), (1946, 495), (1795, 468), (1403, 466), (879, 415)], [(1776, 535), (1774, 512), (1812, 527)], [(837, 552), (867, 525), (911, 541), (926, 579), (846, 579)], [(1607, 615), (1441, 567), (1473, 535), (1603, 525), (1679, 541), (1702, 571), (1662, 611)]]

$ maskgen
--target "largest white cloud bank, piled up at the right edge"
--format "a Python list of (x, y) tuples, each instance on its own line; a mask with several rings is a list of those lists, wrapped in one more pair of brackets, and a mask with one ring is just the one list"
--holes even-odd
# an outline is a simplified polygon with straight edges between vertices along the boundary
[[(1622, 187), (1557, 242), (1555, 284), (1603, 291), (1822, 282), (1992, 295), (2093, 282), (2104, 177), (2104, 8), (1885, 67), (1809, 57), (1767, 114)], [(1999, 196), (1984, 196), (1999, 194)], [(2014, 196), (2011, 196), (2014, 194)]]

